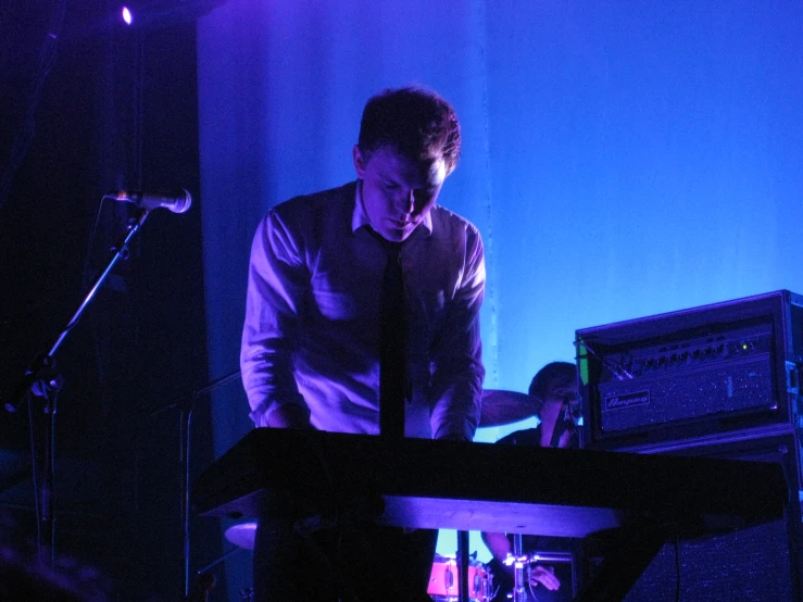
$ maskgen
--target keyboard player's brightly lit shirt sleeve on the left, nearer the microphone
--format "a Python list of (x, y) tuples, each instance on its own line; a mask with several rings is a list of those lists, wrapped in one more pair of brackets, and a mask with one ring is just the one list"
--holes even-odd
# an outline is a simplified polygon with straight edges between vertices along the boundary
[(310, 283), (301, 258), (291, 228), (268, 212), (251, 246), (240, 348), (242, 382), (256, 426), (267, 426), (267, 416), (285, 404), (310, 413), (292, 372), (299, 312)]

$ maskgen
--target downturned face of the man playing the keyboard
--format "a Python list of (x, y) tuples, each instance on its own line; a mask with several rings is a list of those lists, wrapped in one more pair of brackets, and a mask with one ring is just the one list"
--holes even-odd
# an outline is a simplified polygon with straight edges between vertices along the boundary
[(353, 154), (372, 227), (391, 242), (406, 240), (438, 199), (446, 179), (443, 160), (413, 161), (393, 147), (366, 158), (355, 146)]

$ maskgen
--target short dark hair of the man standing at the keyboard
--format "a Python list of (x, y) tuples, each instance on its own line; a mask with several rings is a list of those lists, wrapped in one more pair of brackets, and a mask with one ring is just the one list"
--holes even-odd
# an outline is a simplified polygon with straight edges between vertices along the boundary
[(365, 104), (357, 146), (366, 159), (387, 146), (413, 160), (442, 158), (449, 175), (460, 159), (460, 122), (454, 108), (431, 90), (388, 89)]

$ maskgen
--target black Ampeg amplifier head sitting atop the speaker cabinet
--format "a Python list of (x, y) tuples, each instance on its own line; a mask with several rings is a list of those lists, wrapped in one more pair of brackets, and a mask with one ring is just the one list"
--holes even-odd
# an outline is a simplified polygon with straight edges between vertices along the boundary
[(796, 425), (803, 298), (778, 291), (576, 331), (584, 446)]

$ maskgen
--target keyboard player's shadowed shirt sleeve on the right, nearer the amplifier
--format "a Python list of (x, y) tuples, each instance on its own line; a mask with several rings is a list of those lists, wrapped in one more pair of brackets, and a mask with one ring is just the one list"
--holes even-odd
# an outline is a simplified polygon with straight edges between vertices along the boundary
[(485, 294), (482, 240), (466, 228), (463, 275), (431, 354), (430, 422), (435, 439), (474, 439), (479, 424), (482, 380), (482, 342), (479, 309)]

